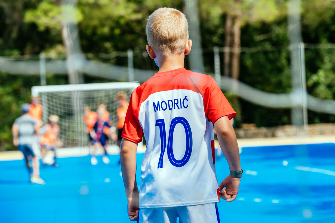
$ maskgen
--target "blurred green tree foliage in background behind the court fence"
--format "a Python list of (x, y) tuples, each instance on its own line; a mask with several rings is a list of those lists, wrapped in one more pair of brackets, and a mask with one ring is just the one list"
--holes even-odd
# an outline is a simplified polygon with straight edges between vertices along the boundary
[[(257, 89), (271, 93), (291, 90), (290, 53), (287, 33), (287, 1), (285, 0), (199, 0), (202, 46), (205, 70), (213, 72), (213, 46), (223, 46), (226, 13), (241, 12), (242, 47), (268, 49), (241, 53), (240, 80)], [(65, 57), (61, 34), (62, 11), (72, 9), (59, 0), (0, 0), (0, 55), (54, 53)], [(77, 3), (74, 22), (84, 53), (113, 51), (145, 51), (145, 25), (148, 16), (160, 7), (174, 7), (183, 11), (182, 0), (81, 0)], [(302, 35), (304, 42), (335, 42), (335, 2), (333, 0), (302, 1)], [(306, 45), (310, 47), (309, 45)], [(270, 50), (271, 49), (271, 50)], [(335, 99), (334, 48), (306, 48), (306, 79), (310, 94)], [(145, 53), (144, 56), (147, 56)], [(223, 53), (220, 54), (221, 61)], [(115, 57), (94, 60), (127, 66), (127, 58)], [(134, 66), (157, 69), (148, 57), (138, 53)], [(187, 65), (186, 65), (187, 66)], [(223, 71), (223, 64), (221, 65)], [(85, 76), (85, 83), (106, 82)], [(39, 85), (37, 76), (0, 74), (0, 147), (15, 149), (11, 143), (11, 125), (20, 115), (19, 107), (28, 102), (30, 88)], [(67, 84), (66, 76), (47, 75), (48, 84)], [(237, 125), (256, 123), (257, 126), (290, 124), (289, 109), (269, 109), (254, 105), (225, 92), (238, 112)], [(334, 115), (309, 111), (309, 122), (334, 122)]]

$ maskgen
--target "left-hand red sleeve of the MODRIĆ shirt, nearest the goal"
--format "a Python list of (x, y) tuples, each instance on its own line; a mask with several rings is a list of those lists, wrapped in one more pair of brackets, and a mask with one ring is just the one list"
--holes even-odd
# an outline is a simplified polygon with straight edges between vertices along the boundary
[(143, 130), (138, 121), (138, 114), (140, 110), (139, 89), (137, 88), (130, 96), (130, 102), (123, 126), (122, 138), (129, 141), (139, 143), (143, 138)]

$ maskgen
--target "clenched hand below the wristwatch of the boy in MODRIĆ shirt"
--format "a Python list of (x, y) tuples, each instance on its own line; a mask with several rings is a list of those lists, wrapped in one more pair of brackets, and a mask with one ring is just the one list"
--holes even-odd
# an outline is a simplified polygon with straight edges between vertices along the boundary
[(239, 193), (241, 178), (233, 178), (228, 175), (219, 185), (220, 198), (231, 202), (236, 199)]

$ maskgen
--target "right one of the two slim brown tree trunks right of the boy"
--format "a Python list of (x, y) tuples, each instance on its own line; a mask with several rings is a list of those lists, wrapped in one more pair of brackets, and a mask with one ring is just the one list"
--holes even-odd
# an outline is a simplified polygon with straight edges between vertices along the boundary
[(233, 52), (231, 58), (231, 77), (239, 79), (241, 55), (241, 13), (238, 13), (233, 25)]

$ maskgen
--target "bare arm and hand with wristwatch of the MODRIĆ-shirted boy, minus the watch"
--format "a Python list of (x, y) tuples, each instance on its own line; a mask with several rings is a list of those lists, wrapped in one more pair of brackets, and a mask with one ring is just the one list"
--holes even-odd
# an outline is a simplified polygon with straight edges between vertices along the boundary
[[(241, 171), (239, 146), (228, 117), (224, 116), (216, 120), (214, 128), (230, 171)], [(227, 202), (235, 200), (239, 192), (240, 181), (241, 178), (233, 178), (228, 175), (219, 185), (220, 197)]]

